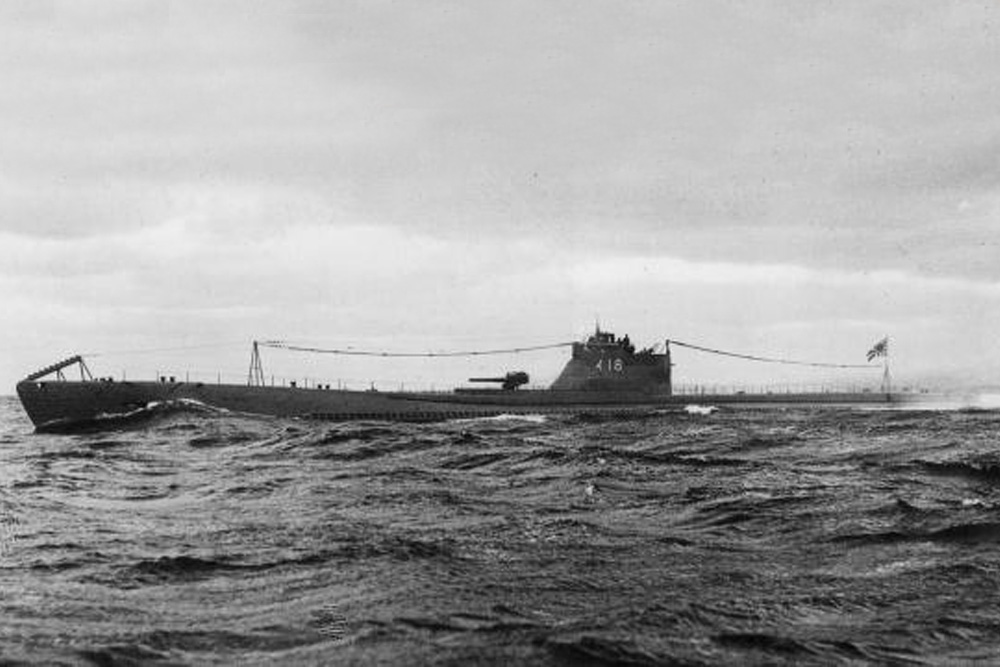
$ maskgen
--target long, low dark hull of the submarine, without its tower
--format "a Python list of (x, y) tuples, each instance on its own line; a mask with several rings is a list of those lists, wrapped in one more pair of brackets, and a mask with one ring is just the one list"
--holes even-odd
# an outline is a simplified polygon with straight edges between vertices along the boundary
[(25, 412), (38, 431), (140, 413), (156, 404), (193, 402), (211, 408), (277, 417), (346, 421), (436, 421), (502, 414), (641, 414), (692, 403), (715, 406), (889, 405), (887, 394), (733, 394), (681, 396), (642, 391), (456, 390), (380, 392), (258, 387), (188, 382), (31, 381), (17, 385)]

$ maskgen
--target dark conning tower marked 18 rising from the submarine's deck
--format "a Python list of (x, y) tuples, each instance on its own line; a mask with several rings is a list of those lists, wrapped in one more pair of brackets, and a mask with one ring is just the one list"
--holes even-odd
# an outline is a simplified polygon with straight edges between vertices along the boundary
[(573, 356), (552, 383), (553, 391), (635, 391), (671, 393), (670, 345), (636, 351), (628, 335), (618, 338), (597, 328), (586, 342), (573, 343)]

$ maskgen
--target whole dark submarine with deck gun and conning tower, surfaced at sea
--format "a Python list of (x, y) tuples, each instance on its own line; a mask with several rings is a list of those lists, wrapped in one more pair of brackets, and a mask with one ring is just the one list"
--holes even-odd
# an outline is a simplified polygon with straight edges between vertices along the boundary
[[(570, 358), (547, 388), (526, 388), (525, 371), (470, 378), (477, 387), (448, 392), (376, 391), (330, 385), (267, 386), (253, 346), (246, 384), (94, 378), (75, 355), (17, 383), (17, 395), (37, 432), (72, 431), (141, 414), (157, 404), (196, 403), (234, 413), (330, 421), (428, 422), (499, 415), (568, 414), (634, 416), (682, 411), (691, 403), (713, 406), (892, 405), (906, 396), (889, 392), (734, 393), (677, 395), (672, 389), (670, 343), (636, 349), (629, 337), (600, 327), (586, 340), (567, 343)], [(80, 379), (67, 369), (79, 368)]]

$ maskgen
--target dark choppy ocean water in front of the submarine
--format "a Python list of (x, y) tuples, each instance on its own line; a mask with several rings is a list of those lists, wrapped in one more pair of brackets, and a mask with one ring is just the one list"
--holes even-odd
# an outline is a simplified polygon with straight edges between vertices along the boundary
[(3, 664), (1000, 662), (1000, 412), (343, 424), (0, 399)]

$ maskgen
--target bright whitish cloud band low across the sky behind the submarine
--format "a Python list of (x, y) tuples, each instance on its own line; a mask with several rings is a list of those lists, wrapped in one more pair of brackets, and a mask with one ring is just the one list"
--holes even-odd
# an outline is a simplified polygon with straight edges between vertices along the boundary
[[(573, 247), (442, 240), (385, 226), (301, 225), (234, 242), (227, 233), (178, 219), (111, 244), (2, 240), (7, 254), (0, 266), (8, 271), (0, 291), (9, 295), (5, 320), (16, 323), (4, 336), (8, 347), (21, 350), (8, 362), (15, 366), (26, 359), (44, 365), (63, 350), (242, 340), (229, 356), (198, 349), (175, 355), (190, 368), (215, 368), (226, 359), (232, 368), (243, 363), (246, 341), (254, 337), (396, 350), (503, 347), (565, 340), (597, 316), (643, 343), (670, 337), (834, 361), (853, 359), (870, 338), (888, 331), (899, 337), (906, 351), (901, 358), (908, 359), (901, 369), (912, 376), (941, 370), (934, 346), (1000, 326), (988, 315), (1000, 298), (1000, 286), (990, 282), (894, 270), (602, 257)], [(9, 270), (17, 268), (11, 260), (29, 250), (38, 266), (69, 273), (50, 278), (44, 274), (54, 269), (39, 272), (29, 263), (21, 265), (26, 275)], [(74, 265), (76, 253), (91, 253), (91, 264)], [(17, 341), (17, 332), (25, 331), (42, 334), (29, 345)], [(984, 368), (1000, 363), (976, 352), (986, 338), (954, 351), (943, 365), (971, 365), (977, 355)], [(309, 364), (275, 361), (293, 369)], [(561, 365), (561, 357), (527, 361), (539, 379)], [(350, 368), (355, 377), (366, 367)], [(775, 377), (768, 369), (716, 368), (692, 358), (683, 368), (687, 378)], [(19, 366), (7, 371), (23, 372)], [(460, 377), (464, 371), (449, 372)], [(414, 373), (431, 377), (433, 369)]]

